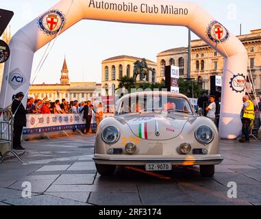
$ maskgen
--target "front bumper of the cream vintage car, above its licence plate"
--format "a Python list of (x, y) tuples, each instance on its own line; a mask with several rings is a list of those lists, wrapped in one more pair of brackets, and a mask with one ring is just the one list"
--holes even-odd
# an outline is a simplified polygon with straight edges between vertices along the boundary
[(169, 163), (173, 166), (194, 166), (194, 165), (217, 165), (223, 162), (221, 155), (209, 155), (208, 157), (186, 156), (178, 157), (140, 157), (140, 156), (108, 156), (95, 155), (92, 158), (95, 164), (120, 165), (120, 166), (145, 166), (146, 164)]

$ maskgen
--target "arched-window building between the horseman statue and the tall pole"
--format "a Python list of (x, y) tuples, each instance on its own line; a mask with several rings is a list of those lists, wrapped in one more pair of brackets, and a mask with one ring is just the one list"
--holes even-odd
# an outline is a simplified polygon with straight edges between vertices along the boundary
[(157, 55), (157, 81), (165, 79), (166, 66), (179, 66), (180, 77), (188, 75), (188, 48), (180, 47), (169, 49)]

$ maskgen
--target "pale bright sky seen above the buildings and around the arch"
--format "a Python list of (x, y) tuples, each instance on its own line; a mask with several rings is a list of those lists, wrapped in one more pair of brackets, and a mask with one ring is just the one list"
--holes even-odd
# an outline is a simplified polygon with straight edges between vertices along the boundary
[[(12, 35), (34, 18), (51, 8), (58, 0), (0, 0), (0, 8), (14, 11), (10, 23)], [(236, 1), (194, 0), (210, 12), (233, 34), (260, 29), (258, 0)], [(186, 47), (186, 27), (136, 25), (105, 21), (81, 21), (58, 37), (49, 57), (34, 83), (59, 83), (60, 70), (66, 56), (71, 81), (101, 81), (101, 61), (116, 55), (145, 57), (156, 62), (156, 55), (166, 49)], [(192, 35), (192, 39), (197, 36)], [(32, 75), (45, 47), (36, 52)]]

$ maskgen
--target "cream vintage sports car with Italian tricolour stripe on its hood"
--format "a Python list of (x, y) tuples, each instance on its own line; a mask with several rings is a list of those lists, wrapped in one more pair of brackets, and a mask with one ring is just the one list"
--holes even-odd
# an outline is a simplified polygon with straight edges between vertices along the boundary
[(218, 130), (195, 114), (186, 96), (138, 92), (116, 105), (115, 116), (97, 129), (93, 160), (100, 175), (113, 175), (117, 165), (147, 171), (199, 165), (203, 177), (214, 176), (214, 165), (223, 161)]

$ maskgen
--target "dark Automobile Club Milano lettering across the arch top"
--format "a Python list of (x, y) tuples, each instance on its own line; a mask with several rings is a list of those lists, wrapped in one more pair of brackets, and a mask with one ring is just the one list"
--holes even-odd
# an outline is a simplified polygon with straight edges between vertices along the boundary
[(175, 8), (174, 5), (160, 5), (159, 7), (154, 5), (148, 5), (147, 3), (141, 3), (140, 6), (134, 5), (134, 3), (108, 3), (106, 1), (90, 0), (89, 8), (97, 8), (102, 10), (115, 10), (123, 12), (142, 12), (149, 14), (181, 14), (187, 15), (188, 8)]

